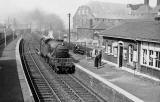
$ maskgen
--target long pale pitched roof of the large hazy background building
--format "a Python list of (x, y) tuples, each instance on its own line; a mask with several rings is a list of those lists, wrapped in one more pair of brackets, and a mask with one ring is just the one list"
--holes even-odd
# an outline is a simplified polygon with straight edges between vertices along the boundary
[[(99, 1), (91, 1), (87, 3), (96, 18), (116, 18), (120, 15), (126, 15), (128, 8), (125, 4), (107, 3)], [(120, 17), (123, 18), (123, 17)]]

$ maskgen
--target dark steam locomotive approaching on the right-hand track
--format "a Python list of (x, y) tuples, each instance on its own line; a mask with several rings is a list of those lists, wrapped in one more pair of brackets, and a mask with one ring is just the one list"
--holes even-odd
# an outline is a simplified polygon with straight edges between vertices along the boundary
[(62, 41), (42, 38), (40, 52), (56, 73), (74, 73), (73, 59), (70, 57), (69, 49), (63, 45)]

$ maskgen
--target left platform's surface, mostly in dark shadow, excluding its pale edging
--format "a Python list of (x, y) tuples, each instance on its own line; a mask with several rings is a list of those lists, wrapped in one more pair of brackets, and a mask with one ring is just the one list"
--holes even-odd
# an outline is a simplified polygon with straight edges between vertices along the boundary
[(0, 102), (23, 102), (15, 56), (17, 41), (0, 48)]

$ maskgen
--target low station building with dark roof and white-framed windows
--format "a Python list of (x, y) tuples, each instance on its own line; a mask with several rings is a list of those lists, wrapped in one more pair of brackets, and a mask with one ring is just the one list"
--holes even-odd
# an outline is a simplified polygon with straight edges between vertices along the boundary
[(160, 78), (160, 23), (128, 21), (101, 32), (104, 60)]

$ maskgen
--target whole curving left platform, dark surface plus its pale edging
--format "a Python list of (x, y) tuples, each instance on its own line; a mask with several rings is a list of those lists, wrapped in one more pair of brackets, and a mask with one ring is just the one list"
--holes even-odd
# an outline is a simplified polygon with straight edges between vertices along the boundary
[(20, 38), (0, 49), (0, 102), (31, 102), (19, 57)]

